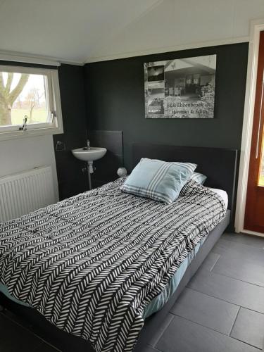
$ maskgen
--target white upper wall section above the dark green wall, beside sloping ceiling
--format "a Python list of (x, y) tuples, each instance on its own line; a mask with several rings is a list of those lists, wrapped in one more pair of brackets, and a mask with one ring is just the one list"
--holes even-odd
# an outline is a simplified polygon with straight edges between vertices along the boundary
[(87, 61), (196, 44), (243, 42), (249, 40), (250, 21), (264, 17), (263, 0), (163, 0), (157, 4), (119, 33), (101, 37)]

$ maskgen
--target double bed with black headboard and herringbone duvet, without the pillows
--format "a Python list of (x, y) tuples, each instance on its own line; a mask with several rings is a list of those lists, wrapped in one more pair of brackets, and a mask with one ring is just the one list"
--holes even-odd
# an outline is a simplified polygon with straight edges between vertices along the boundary
[(142, 157), (196, 163), (206, 187), (190, 182), (165, 205), (123, 193), (121, 178), (1, 224), (4, 306), (34, 322), (39, 312), (52, 334), (88, 340), (85, 351), (144, 351), (232, 226), (237, 151), (134, 144), (132, 166)]

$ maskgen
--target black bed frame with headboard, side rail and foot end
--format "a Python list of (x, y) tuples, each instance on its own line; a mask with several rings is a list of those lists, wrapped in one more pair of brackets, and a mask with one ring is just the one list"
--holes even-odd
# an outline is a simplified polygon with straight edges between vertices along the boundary
[[(234, 225), (234, 203), (237, 184), (237, 164), (238, 152), (231, 149), (196, 148), (185, 146), (163, 146), (152, 144), (133, 144), (132, 146), (132, 167), (137, 165), (140, 158), (156, 158), (163, 161), (186, 161), (197, 163), (197, 171), (205, 174), (208, 179), (206, 186), (225, 189), (228, 194), (229, 204), (227, 215), (213, 231), (208, 234), (195, 258), (187, 268), (176, 291), (168, 302), (157, 313), (146, 319), (144, 328), (134, 348), (134, 352), (147, 352), (147, 344), (151, 345), (151, 339), (159, 334), (159, 329), (170, 308), (188, 284), (191, 277), (198, 270), (203, 260), (218, 241), (226, 228)], [(89, 342), (75, 337), (58, 329), (48, 322), (41, 314), (32, 308), (26, 308), (13, 301), (10, 301), (4, 294), (0, 293), (0, 304), (9, 310), (8, 314), (15, 314), (18, 320), (22, 320), (23, 325), (29, 327), (34, 333), (60, 348), (63, 352), (94, 352)], [(11, 312), (11, 313), (10, 313)]]

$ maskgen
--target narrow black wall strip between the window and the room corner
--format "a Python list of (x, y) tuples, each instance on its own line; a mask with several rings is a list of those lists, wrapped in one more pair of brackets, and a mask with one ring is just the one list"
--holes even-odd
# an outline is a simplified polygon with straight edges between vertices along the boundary
[[(58, 68), (63, 134), (54, 134), (58, 190), (60, 199), (65, 199), (88, 189), (87, 172), (82, 172), (84, 163), (71, 153), (72, 149), (86, 144), (86, 111), (84, 100), (84, 68), (64, 65)], [(65, 151), (56, 151), (57, 141), (65, 144)]]

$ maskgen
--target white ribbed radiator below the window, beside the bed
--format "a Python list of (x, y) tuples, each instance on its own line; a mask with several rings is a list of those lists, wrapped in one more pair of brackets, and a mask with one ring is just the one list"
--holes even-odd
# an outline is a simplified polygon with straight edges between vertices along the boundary
[(55, 203), (50, 166), (0, 177), (0, 222)]

